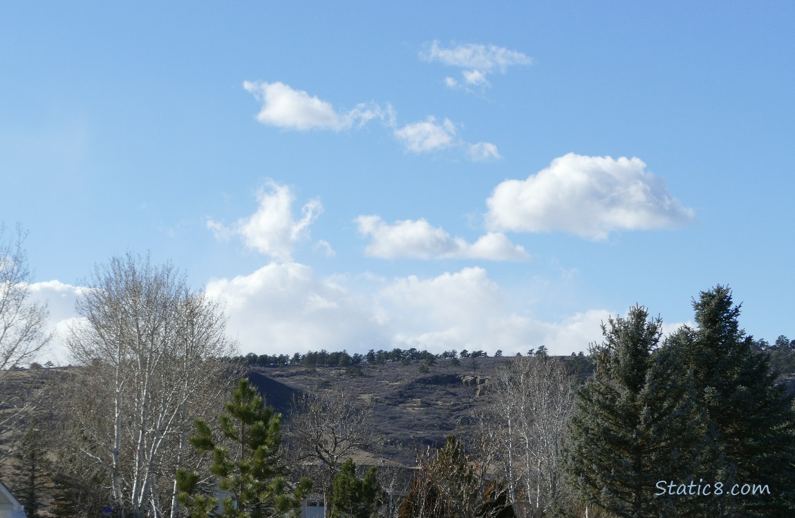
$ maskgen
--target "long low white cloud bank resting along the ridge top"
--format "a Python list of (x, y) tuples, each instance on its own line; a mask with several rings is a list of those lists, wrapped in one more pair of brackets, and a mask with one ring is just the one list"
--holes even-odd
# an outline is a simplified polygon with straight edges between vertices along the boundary
[(485, 269), (429, 278), (373, 276), (352, 290), (345, 278), (319, 278), (297, 263), (267, 265), (250, 275), (211, 280), (207, 293), (226, 304), (229, 329), (243, 351), (417, 347), (524, 352), (545, 344), (552, 354), (585, 350), (599, 338), (607, 311), (585, 311), (558, 323), (517, 311)]

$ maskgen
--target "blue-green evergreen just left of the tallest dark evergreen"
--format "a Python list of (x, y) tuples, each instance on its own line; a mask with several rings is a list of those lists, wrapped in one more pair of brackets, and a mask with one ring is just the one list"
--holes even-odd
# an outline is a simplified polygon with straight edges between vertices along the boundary
[(576, 397), (564, 470), (585, 504), (609, 516), (693, 516), (694, 497), (661, 495), (659, 481), (697, 473), (704, 419), (676, 346), (645, 307), (603, 325), (596, 371)]

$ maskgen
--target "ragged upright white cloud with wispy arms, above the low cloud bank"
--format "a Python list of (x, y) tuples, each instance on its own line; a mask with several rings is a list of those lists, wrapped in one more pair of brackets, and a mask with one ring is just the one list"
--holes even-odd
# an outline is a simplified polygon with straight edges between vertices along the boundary
[(277, 261), (290, 261), (293, 246), (308, 236), (312, 222), (323, 211), (319, 200), (313, 199), (301, 208), (301, 218), (293, 218), (295, 196), (286, 185), (269, 181), (257, 193), (259, 207), (253, 215), (238, 219), (232, 226), (207, 220), (207, 228), (216, 238), (239, 235), (250, 249), (273, 257)]

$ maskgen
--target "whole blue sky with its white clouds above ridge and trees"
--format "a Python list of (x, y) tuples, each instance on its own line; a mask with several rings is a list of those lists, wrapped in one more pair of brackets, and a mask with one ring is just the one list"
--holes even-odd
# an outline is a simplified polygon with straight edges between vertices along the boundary
[(243, 352), (569, 354), (715, 284), (795, 335), (792, 2), (384, 3), (4, 4), (0, 221), (52, 327), (129, 250)]

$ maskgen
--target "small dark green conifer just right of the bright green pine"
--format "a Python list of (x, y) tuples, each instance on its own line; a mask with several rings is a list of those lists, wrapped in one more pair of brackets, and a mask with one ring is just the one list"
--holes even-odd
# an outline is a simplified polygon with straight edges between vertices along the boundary
[(378, 512), (382, 494), (375, 468), (367, 470), (360, 480), (353, 459), (347, 458), (334, 476), (333, 486), (332, 518), (370, 518)]

